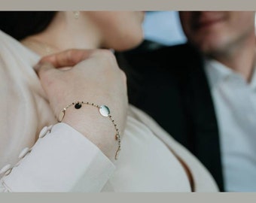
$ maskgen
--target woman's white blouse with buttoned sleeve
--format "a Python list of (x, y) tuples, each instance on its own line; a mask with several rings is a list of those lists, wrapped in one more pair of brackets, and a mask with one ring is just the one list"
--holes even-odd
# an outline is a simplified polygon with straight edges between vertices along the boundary
[[(1, 175), (0, 191), (189, 192), (187, 174), (170, 149), (181, 153), (197, 191), (217, 191), (200, 162), (136, 108), (130, 107), (114, 162), (65, 123), (43, 129), (56, 119), (32, 68), (38, 56), (3, 32), (0, 44), (0, 168), (13, 167)], [(19, 161), (25, 147), (32, 149)]]

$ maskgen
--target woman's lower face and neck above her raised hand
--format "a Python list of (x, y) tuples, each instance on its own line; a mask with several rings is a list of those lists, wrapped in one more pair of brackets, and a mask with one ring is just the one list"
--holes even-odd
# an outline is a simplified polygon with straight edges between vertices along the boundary
[(81, 11), (78, 19), (72, 11), (58, 12), (44, 32), (22, 42), (41, 56), (47, 55), (46, 46), (52, 53), (75, 48), (129, 50), (143, 40), (143, 20), (144, 12), (139, 11)]

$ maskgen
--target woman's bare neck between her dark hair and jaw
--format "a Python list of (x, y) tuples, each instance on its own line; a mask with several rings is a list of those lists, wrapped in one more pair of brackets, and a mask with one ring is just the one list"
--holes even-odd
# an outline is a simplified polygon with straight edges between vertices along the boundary
[(21, 43), (46, 56), (68, 49), (99, 48), (102, 39), (99, 33), (86, 15), (80, 14), (77, 19), (72, 11), (60, 11), (44, 32), (30, 35)]

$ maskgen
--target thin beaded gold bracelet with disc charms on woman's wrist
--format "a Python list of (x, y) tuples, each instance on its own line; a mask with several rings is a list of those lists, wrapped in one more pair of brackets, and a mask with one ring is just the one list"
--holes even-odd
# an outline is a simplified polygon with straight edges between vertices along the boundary
[(99, 114), (101, 114), (102, 117), (108, 117), (111, 120), (111, 122), (114, 125), (114, 129), (116, 131), (115, 139), (118, 141), (118, 148), (117, 148), (117, 151), (116, 151), (115, 156), (114, 156), (114, 159), (117, 159), (117, 156), (118, 156), (118, 154), (121, 150), (120, 132), (119, 132), (119, 129), (117, 129), (117, 124), (114, 123), (114, 120), (112, 119), (109, 108), (106, 105), (99, 106), (99, 105), (95, 105), (94, 103), (90, 103), (90, 102), (73, 102), (72, 104), (67, 105), (66, 108), (63, 108), (62, 111), (60, 111), (59, 117), (58, 117), (59, 122), (62, 122), (62, 120), (65, 116), (66, 110), (69, 107), (71, 107), (72, 105), (74, 105), (76, 109), (81, 108), (82, 105), (92, 105), (93, 107), (96, 107), (96, 108), (99, 109)]

